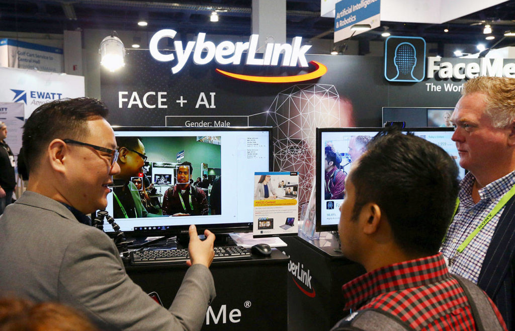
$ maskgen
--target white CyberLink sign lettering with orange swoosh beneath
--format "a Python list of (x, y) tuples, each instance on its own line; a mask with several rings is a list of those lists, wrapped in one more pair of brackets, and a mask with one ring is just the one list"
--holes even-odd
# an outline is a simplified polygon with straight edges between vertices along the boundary
[[(156, 32), (150, 39), (149, 43), (150, 55), (157, 61), (169, 62), (177, 60), (177, 63), (173, 67), (171, 67), (171, 73), (173, 74), (177, 74), (181, 71), (181, 69), (186, 64), (187, 60), (190, 58), (190, 56), (192, 56), (192, 53), (193, 63), (197, 65), (208, 64), (213, 60), (215, 60), (216, 63), (221, 65), (239, 65), (242, 63), (243, 53), (246, 51), (246, 65), (277, 66), (279, 65), (279, 58), (281, 54), (283, 54), (283, 59), (281, 62), (282, 66), (296, 67), (298, 64), (301, 67), (309, 66), (305, 58), (305, 55), (307, 50), (311, 48), (311, 45), (302, 46), (302, 37), (295, 37), (291, 45), (267, 43), (265, 47), (265, 52), (263, 54), (263, 58), (259, 58), (256, 56), (256, 53), (258, 51), (259, 34), (252, 34), (252, 36), (250, 36), (249, 38), (249, 41), (245, 43), (233, 43), (231, 41), (222, 41), (218, 45), (215, 45), (211, 41), (206, 41), (206, 34), (200, 32), (197, 36), (196, 41), (188, 41), (185, 46), (183, 45), (182, 41), (175, 40), (175, 54), (161, 53), (161, 51), (158, 49), (159, 41), (163, 38), (174, 39), (176, 34), (177, 32), (175, 30), (163, 29)], [(310, 64), (312, 64), (315, 67), (314, 72), (296, 76), (263, 77), (239, 75), (227, 71), (222, 71), (221, 69), (216, 69), (216, 71), (222, 75), (226, 75), (228, 77), (236, 79), (270, 83), (297, 82), (310, 80), (321, 77), (322, 75), (327, 73), (327, 67), (325, 67), (323, 64), (316, 61), (311, 61)]]

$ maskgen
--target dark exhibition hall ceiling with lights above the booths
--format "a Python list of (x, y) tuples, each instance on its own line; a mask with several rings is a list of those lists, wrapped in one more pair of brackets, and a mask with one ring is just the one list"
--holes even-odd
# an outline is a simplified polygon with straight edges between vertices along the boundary
[[(0, 31), (62, 33), (63, 30), (109, 29), (154, 32), (173, 28), (180, 33), (248, 36), (251, 33), (251, 0), (132, 1), (132, 0), (0, 0)], [(218, 22), (210, 22), (216, 11)], [(145, 19), (146, 27), (137, 22)], [(515, 1), (510, 0), (444, 24), (381, 22), (380, 28), (352, 37), (382, 40), (385, 29), (397, 36), (420, 36), (432, 43), (492, 45), (506, 30), (515, 30)], [(485, 41), (485, 25), (492, 41)], [(334, 19), (320, 17), (320, 0), (287, 0), (287, 37), (332, 39)], [(449, 32), (444, 32), (448, 29)], [(497, 45), (508, 46), (515, 38)]]

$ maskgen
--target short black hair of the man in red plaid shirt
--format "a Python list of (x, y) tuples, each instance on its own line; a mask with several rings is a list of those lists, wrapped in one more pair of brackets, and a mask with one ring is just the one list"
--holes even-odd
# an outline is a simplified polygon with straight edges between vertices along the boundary
[(369, 202), (388, 219), (404, 252), (436, 254), (452, 219), (458, 167), (439, 146), (396, 127), (378, 133), (356, 163), (353, 219)]

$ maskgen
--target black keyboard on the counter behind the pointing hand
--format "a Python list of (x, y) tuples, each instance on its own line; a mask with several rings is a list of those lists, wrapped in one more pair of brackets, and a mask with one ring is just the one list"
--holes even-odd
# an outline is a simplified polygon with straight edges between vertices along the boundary
[[(252, 254), (242, 246), (215, 247), (214, 261), (249, 259)], [(131, 265), (184, 263), (190, 259), (187, 249), (164, 249), (130, 252)]]

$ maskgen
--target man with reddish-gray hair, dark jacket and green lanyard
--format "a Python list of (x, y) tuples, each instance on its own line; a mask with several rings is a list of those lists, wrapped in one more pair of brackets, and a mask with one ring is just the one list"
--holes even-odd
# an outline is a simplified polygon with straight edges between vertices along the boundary
[(515, 327), (515, 79), (477, 77), (451, 116), (460, 165), (453, 221), (441, 252), (452, 273), (482, 288)]

